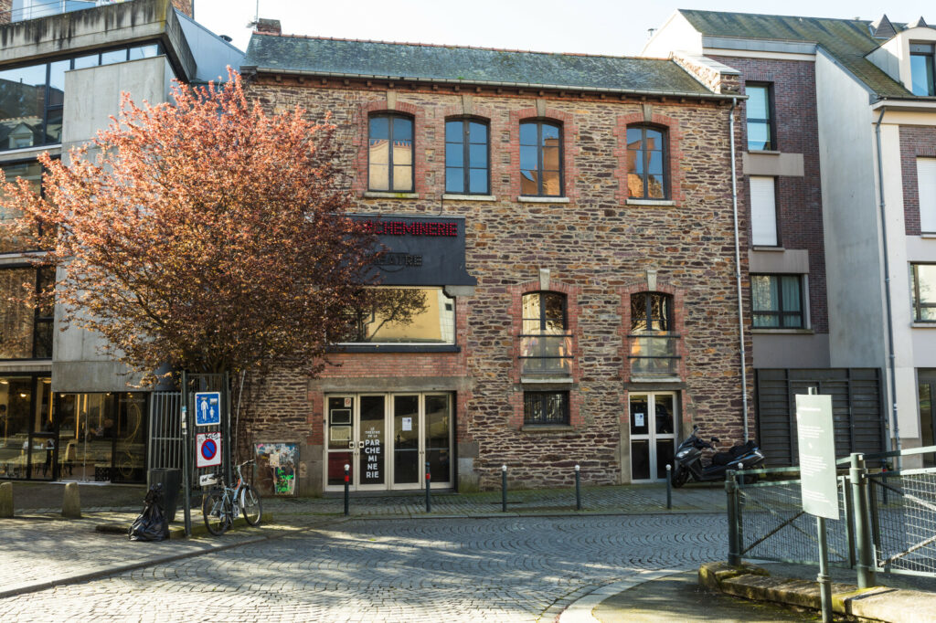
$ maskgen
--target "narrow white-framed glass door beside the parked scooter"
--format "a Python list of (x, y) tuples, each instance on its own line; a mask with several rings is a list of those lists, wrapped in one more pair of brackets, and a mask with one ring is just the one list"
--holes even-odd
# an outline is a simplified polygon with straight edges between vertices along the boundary
[(631, 480), (653, 482), (666, 479), (666, 464), (672, 465), (676, 449), (676, 394), (652, 392), (631, 394)]

